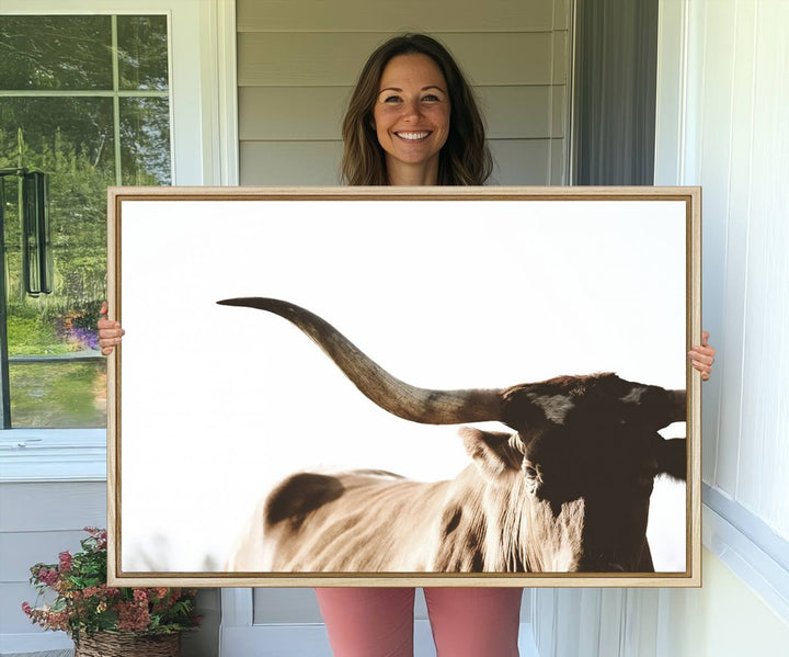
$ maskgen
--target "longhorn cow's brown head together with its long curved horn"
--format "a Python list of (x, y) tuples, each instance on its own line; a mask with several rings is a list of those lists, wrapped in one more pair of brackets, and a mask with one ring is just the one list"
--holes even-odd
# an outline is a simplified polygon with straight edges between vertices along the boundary
[[(431, 390), (391, 376), (312, 313), (278, 299), (235, 298), (288, 319), (378, 406), (408, 420), (455, 424), (498, 420), (514, 433), (464, 430), (467, 450), (518, 542), (514, 568), (649, 571), (645, 531), (654, 477), (685, 478), (685, 440), (658, 430), (685, 420), (685, 390), (614, 374), (561, 376), (505, 389)], [(512, 503), (521, 505), (511, 509)], [(518, 518), (519, 518), (518, 517)], [(527, 529), (524, 529), (527, 528)], [(524, 533), (526, 532), (526, 533)], [(558, 556), (559, 555), (559, 556)]]

